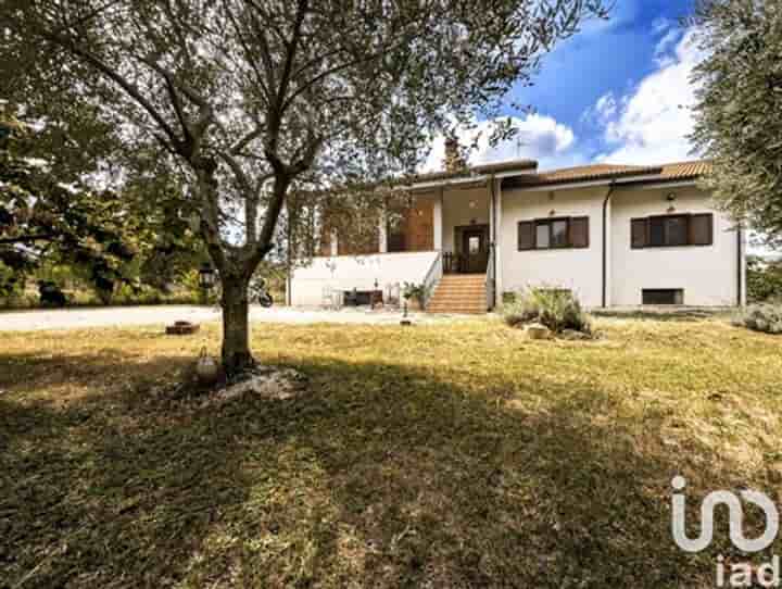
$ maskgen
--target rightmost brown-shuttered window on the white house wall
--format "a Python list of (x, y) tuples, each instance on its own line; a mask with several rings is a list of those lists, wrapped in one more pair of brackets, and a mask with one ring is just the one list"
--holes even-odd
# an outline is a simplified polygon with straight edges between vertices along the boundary
[(630, 243), (633, 249), (711, 246), (714, 215), (660, 215), (630, 221)]

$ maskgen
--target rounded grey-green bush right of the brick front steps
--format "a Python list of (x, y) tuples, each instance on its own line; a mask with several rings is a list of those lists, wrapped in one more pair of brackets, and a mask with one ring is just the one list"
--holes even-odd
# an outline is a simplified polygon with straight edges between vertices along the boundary
[(555, 334), (566, 329), (592, 334), (592, 319), (569, 290), (531, 288), (503, 305), (502, 315), (512, 327), (541, 323)]

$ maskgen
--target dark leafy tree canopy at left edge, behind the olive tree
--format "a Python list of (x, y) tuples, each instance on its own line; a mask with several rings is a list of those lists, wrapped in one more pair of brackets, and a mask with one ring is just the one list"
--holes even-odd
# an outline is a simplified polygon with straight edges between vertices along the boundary
[[(180, 199), (176, 187), (136, 178), (117, 192), (97, 180), (96, 158), (68, 150), (62, 127), (23, 123), (8, 110), (0, 117), (0, 262), (12, 272), (0, 293), (18, 288), (45, 261), (79, 266), (105, 300), (118, 283), (162, 286), (184, 270), (198, 246), (187, 220), (172, 210)], [(149, 193), (159, 197), (155, 206)], [(133, 272), (139, 264), (141, 275)]]

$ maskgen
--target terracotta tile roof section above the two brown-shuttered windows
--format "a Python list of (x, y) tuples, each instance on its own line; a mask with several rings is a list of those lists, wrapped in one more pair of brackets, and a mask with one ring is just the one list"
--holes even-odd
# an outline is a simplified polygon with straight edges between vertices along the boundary
[(581, 181), (610, 180), (614, 178), (642, 176), (643, 180), (677, 180), (696, 178), (706, 174), (710, 163), (706, 161), (678, 162), (655, 166), (591, 164), (564, 167), (513, 178), (516, 187), (552, 186)]

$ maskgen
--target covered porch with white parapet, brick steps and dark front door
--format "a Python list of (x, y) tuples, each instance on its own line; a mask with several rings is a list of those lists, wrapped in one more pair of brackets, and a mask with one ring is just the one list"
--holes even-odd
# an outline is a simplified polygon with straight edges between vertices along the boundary
[(291, 303), (317, 304), (337, 292), (343, 304), (393, 304), (407, 284), (425, 287), (427, 310), (485, 313), (494, 304), (493, 188), (485, 178), (416, 187), (404, 205), (371, 222), (370, 241), (352, 240), (358, 230), (332, 231), (326, 251), (294, 271)]

